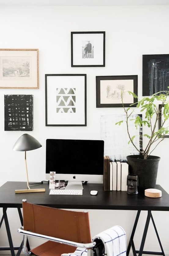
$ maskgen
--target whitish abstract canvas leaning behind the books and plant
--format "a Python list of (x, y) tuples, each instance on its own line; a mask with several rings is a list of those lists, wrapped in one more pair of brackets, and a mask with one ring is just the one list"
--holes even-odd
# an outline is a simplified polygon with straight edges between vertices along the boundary
[[(130, 116), (134, 119), (137, 114)], [(141, 116), (141, 115), (139, 115)], [(105, 142), (104, 155), (110, 157), (110, 160), (127, 161), (128, 155), (139, 155), (139, 152), (129, 142), (126, 123), (116, 125), (120, 120), (126, 120), (125, 115), (103, 115), (101, 116), (101, 140)], [(140, 135), (142, 128), (135, 128), (134, 121), (129, 122), (129, 131), (134, 138), (134, 144), (140, 149)]]

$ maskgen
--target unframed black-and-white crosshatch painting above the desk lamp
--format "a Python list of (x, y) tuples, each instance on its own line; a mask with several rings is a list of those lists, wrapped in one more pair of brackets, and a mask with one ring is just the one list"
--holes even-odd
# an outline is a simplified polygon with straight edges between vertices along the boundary
[(4, 95), (5, 131), (33, 131), (33, 95)]

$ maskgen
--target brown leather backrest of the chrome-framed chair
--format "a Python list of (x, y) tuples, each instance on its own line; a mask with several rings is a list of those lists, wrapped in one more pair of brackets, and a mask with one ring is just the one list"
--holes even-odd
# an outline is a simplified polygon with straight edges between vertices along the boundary
[(91, 242), (88, 212), (23, 202), (24, 230), (80, 243)]

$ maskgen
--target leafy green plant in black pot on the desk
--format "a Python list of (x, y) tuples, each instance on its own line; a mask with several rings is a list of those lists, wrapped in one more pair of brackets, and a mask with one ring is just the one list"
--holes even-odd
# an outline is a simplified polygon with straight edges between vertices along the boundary
[[(169, 87), (168, 87), (169, 88)], [(160, 161), (159, 156), (152, 156), (152, 152), (164, 140), (164, 136), (169, 134), (169, 127), (166, 127), (166, 121), (169, 119), (169, 100), (167, 96), (169, 91), (160, 91), (153, 94), (150, 97), (144, 97), (141, 100), (138, 96), (130, 91), (127, 93), (132, 94), (134, 98), (137, 98), (137, 102), (131, 104), (131, 106), (137, 107), (142, 113), (142, 118), (136, 116), (135, 119), (131, 119), (131, 115), (134, 112), (133, 108), (125, 108), (123, 103), (123, 96), (126, 92), (121, 92), (121, 100), (126, 116), (126, 120), (121, 120), (116, 124), (126, 123), (127, 134), (129, 136), (129, 142), (133, 144), (134, 148), (140, 153), (140, 155), (127, 156), (129, 164), (129, 173), (138, 175), (138, 189), (143, 191), (147, 188), (154, 188), (156, 185), (158, 163)], [(159, 119), (162, 120), (161, 127), (158, 127)], [(141, 148), (138, 148), (134, 144), (134, 137), (129, 131), (129, 122), (134, 121), (135, 128), (138, 129), (142, 126), (148, 133), (142, 133), (141, 141), (143, 137), (146, 137), (146, 143), (141, 144)]]

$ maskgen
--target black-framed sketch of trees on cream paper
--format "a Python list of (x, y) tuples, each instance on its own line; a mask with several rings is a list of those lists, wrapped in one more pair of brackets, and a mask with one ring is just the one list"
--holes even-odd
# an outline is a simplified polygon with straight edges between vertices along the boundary
[(136, 103), (128, 91), (138, 94), (138, 76), (97, 76), (96, 77), (96, 107), (111, 108), (123, 107), (121, 93), (123, 93), (123, 103), (125, 107)]

